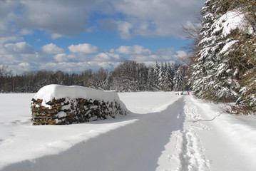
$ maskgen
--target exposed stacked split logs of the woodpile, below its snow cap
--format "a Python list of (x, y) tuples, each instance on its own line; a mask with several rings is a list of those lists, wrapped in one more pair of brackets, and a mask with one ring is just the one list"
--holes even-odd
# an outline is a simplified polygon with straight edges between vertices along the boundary
[(116, 101), (92, 100), (83, 98), (60, 98), (46, 102), (42, 99), (31, 100), (33, 125), (66, 125), (72, 123), (86, 123), (93, 120), (104, 120), (116, 115), (126, 115)]

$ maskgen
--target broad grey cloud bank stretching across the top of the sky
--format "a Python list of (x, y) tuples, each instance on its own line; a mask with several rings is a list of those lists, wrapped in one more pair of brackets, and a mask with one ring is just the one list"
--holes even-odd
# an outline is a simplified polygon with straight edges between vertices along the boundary
[[(205, 0), (56, 0), (0, 1), (0, 35), (46, 31), (51, 38), (76, 36), (101, 26), (123, 39), (134, 36), (178, 36), (180, 24), (193, 20)], [(95, 14), (101, 14), (96, 19)], [(92, 16), (92, 17), (91, 17)]]

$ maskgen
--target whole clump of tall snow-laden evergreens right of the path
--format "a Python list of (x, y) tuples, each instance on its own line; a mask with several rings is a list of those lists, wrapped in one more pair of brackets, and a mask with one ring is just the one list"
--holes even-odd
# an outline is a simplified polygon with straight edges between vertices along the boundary
[(190, 80), (198, 97), (215, 102), (238, 98), (243, 113), (255, 108), (255, 5), (250, 0), (205, 2), (202, 41)]

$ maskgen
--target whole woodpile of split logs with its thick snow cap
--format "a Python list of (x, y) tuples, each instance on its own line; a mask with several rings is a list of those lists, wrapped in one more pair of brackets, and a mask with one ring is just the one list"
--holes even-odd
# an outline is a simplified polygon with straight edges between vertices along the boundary
[(81, 86), (48, 85), (31, 100), (33, 125), (65, 125), (116, 118), (128, 110), (117, 93)]

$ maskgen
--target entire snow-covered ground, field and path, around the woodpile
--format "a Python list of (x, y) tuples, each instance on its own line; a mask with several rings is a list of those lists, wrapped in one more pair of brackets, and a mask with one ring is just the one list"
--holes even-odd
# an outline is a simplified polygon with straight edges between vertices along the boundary
[(255, 170), (255, 116), (192, 95), (118, 95), (129, 115), (33, 126), (34, 94), (0, 94), (0, 170)]

